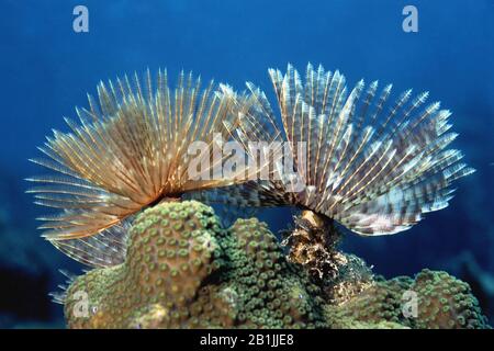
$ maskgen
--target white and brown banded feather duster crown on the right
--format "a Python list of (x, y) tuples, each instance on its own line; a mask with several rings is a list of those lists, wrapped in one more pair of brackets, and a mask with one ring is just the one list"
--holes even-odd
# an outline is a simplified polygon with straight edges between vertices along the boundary
[[(450, 184), (474, 171), (460, 162), (461, 151), (447, 149), (457, 137), (448, 132), (451, 113), (438, 102), (426, 104), (428, 93), (407, 90), (392, 98), (392, 86), (379, 88), (378, 81), (359, 81), (349, 91), (340, 72), (311, 64), (304, 81), (291, 65), (284, 75), (269, 73), (283, 133), (265, 93), (251, 83), (249, 94), (237, 98), (245, 109), (232, 133), (244, 145), (288, 140), (290, 152), (272, 158), (270, 174), (278, 178), (247, 182), (223, 195), (236, 203), (296, 205), (360, 235), (395, 234), (446, 207)], [(279, 171), (288, 159), (302, 189)], [(203, 196), (218, 199), (225, 191)]]

